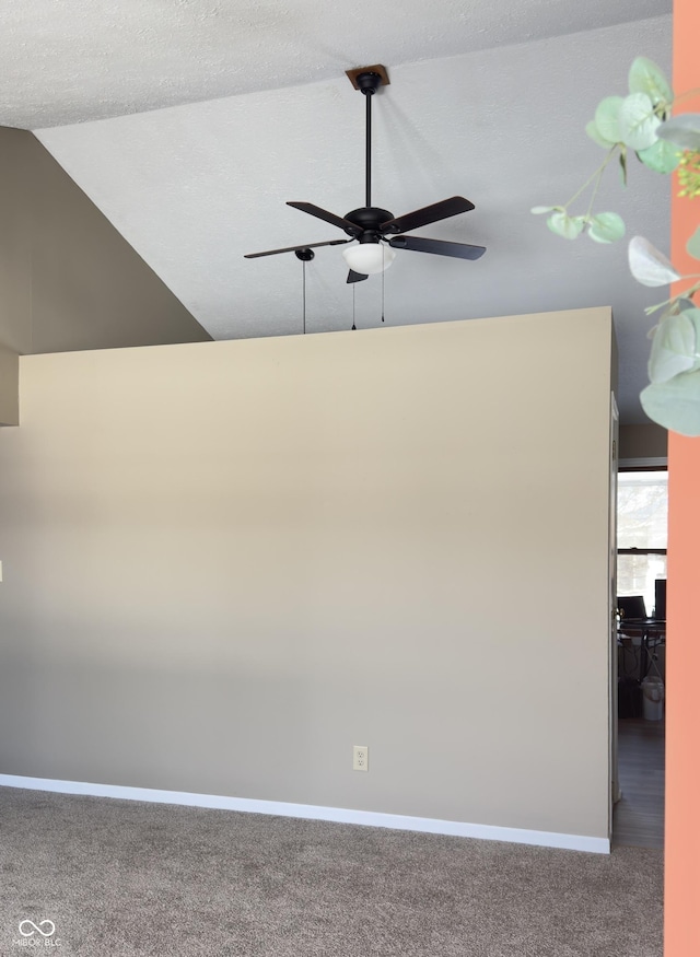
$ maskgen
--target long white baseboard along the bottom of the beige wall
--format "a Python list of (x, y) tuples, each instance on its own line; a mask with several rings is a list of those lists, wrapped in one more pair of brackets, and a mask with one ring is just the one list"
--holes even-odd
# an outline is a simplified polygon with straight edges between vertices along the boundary
[(467, 824), (466, 821), (440, 820), (430, 817), (409, 817), (402, 814), (383, 814), (373, 810), (352, 810), (345, 807), (317, 807), (313, 804), (288, 804), (283, 801), (256, 801), (249, 797), (223, 797), (218, 794), (194, 794), (187, 791), (158, 791), (153, 787), (128, 787), (121, 784), (52, 781), (48, 778), (24, 778), (19, 774), (0, 774), (0, 786), (52, 791), (58, 794), (88, 794), (92, 797), (118, 797), (126, 801), (147, 801), (155, 804), (183, 804), (188, 807), (213, 807), (220, 810), (238, 810), (247, 814), (302, 817), (312, 820), (330, 820), (337, 824), (358, 824), (366, 827), (451, 835), (458, 838), (478, 838), (485, 841), (508, 841), (513, 844), (588, 851), (594, 854), (610, 853), (610, 841), (607, 838)]

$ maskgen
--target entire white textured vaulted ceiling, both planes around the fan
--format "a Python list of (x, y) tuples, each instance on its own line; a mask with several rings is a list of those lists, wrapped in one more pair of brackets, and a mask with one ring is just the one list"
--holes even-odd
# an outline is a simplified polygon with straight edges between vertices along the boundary
[[(399, 253), (384, 283), (353, 288), (340, 250), (319, 249), (307, 331), (347, 329), (353, 315), (359, 329), (381, 325), (382, 299), (387, 325), (611, 305), (621, 418), (640, 422), (644, 306), (663, 294), (630, 278), (625, 243), (560, 240), (529, 209), (565, 201), (600, 163), (583, 127), (598, 100), (626, 91), (633, 57), (668, 69), (669, 10), (30, 0), (0, 16), (0, 124), (33, 129), (214, 338), (294, 335), (301, 264), (243, 255), (343, 238), (284, 203), (341, 215), (363, 205), (364, 101), (345, 70), (382, 62), (374, 203), (399, 214), (466, 196), (474, 212), (417, 232), (488, 252), (476, 262)], [(668, 180), (632, 165), (627, 190), (607, 171), (595, 209), (666, 248)]]

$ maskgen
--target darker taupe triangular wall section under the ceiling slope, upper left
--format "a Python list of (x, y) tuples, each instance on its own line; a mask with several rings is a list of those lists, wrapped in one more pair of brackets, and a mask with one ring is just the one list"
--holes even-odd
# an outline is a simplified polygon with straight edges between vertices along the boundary
[(50, 352), (210, 339), (33, 133), (0, 127), (0, 345)]

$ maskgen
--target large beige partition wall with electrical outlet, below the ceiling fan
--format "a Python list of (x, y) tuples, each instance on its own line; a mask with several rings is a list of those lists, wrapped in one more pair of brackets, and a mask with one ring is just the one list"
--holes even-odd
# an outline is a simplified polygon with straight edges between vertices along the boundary
[(610, 336), (24, 358), (0, 772), (606, 837)]

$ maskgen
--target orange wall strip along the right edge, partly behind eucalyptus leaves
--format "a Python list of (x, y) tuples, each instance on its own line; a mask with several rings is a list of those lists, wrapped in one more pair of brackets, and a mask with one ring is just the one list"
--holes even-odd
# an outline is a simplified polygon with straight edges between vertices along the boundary
[[(700, 5), (674, 0), (674, 90), (700, 87)], [(700, 96), (682, 112), (700, 113)], [(675, 192), (677, 190), (674, 190)], [(686, 253), (700, 224), (700, 199), (672, 201), (672, 259), (697, 272)], [(668, 650), (666, 676), (665, 957), (700, 955), (700, 439), (668, 442)]]

